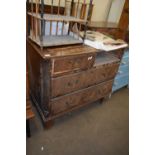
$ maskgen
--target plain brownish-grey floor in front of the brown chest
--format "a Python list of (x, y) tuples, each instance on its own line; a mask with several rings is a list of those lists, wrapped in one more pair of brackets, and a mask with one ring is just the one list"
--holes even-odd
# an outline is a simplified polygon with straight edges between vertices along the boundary
[(36, 113), (31, 134), (27, 155), (128, 155), (129, 90), (123, 88), (103, 104), (62, 116), (48, 130)]

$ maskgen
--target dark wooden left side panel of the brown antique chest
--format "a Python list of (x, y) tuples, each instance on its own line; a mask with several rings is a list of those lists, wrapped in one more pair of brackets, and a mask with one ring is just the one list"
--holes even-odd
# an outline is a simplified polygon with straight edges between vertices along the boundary
[[(49, 115), (50, 60), (44, 60), (36, 49), (27, 42), (30, 95), (45, 116)], [(38, 106), (37, 105), (37, 106)]]

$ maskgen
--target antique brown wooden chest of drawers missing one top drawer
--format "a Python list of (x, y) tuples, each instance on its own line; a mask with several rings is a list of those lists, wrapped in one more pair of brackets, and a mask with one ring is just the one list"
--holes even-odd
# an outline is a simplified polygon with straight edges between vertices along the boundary
[(123, 49), (105, 53), (82, 44), (41, 50), (30, 40), (26, 45), (30, 94), (46, 127), (111, 94)]

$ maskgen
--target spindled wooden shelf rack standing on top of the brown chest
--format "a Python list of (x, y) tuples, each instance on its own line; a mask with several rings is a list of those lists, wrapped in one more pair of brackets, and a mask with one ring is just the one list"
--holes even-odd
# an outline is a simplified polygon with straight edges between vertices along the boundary
[[(93, 0), (52, 0), (50, 12), (46, 13), (44, 0), (27, 0), (27, 38), (41, 48), (49, 46), (81, 44), (85, 38), (80, 37), (81, 24), (85, 30), (91, 19)], [(54, 6), (58, 2), (58, 6)], [(61, 10), (61, 11), (60, 11)]]

